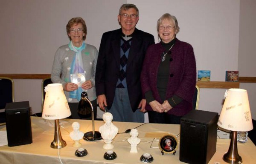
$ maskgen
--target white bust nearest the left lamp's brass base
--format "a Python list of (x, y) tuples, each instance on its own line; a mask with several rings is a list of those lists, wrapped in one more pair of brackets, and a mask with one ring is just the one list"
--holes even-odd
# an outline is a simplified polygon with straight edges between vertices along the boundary
[(78, 122), (73, 122), (72, 128), (73, 131), (70, 132), (70, 138), (74, 141), (73, 147), (80, 147), (82, 144), (79, 141), (83, 138), (84, 133), (79, 130), (80, 124)]

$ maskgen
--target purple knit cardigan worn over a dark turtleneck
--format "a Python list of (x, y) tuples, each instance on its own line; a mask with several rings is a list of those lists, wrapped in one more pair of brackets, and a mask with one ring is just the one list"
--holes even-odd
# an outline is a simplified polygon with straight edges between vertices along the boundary
[[(143, 70), (140, 76), (144, 98), (145, 92), (151, 90), (155, 100), (160, 103), (163, 102), (157, 92), (157, 72), (161, 62), (161, 54), (164, 51), (165, 49), (163, 49), (161, 43), (148, 47), (143, 63)], [(166, 89), (166, 99), (175, 94), (183, 98), (183, 101), (167, 113), (183, 116), (192, 110), (192, 99), (196, 85), (195, 55), (193, 47), (189, 43), (182, 42), (178, 39), (176, 39), (171, 52), (173, 60), (170, 61), (170, 76)], [(149, 104), (146, 104), (145, 109), (149, 111), (152, 110)]]

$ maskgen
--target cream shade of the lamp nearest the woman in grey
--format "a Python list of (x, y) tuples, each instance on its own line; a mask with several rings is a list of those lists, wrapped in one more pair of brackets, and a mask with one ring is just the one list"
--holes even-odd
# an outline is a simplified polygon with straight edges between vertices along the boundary
[(48, 84), (44, 91), (46, 95), (42, 118), (57, 120), (71, 115), (61, 83)]

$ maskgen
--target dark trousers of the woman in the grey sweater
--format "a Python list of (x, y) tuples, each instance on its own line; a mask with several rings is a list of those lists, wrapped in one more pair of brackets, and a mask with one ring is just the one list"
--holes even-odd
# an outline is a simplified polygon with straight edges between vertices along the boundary
[[(94, 114), (94, 120), (97, 118), (97, 99), (90, 101), (92, 106), (93, 106), (93, 114)], [(91, 120), (92, 118), (83, 118), (81, 115), (78, 114), (77, 108), (78, 108), (78, 103), (68, 103), (71, 111), (71, 116), (68, 118), (73, 118), (73, 119), (86, 119), (86, 120)]]

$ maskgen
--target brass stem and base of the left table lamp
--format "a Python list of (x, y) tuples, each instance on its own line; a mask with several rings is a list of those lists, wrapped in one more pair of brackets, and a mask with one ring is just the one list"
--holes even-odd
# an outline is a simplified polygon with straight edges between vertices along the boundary
[(54, 149), (61, 149), (62, 147), (65, 147), (67, 143), (61, 137), (59, 120), (54, 120), (54, 130), (54, 139), (51, 143), (51, 147)]

